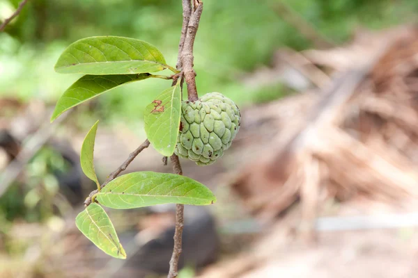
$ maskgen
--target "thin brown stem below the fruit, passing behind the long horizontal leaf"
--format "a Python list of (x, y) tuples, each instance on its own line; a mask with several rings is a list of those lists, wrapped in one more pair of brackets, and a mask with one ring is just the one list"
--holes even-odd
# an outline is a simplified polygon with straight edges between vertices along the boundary
[[(175, 174), (183, 174), (178, 156), (173, 154), (170, 159), (171, 163), (173, 163), (173, 172)], [(173, 254), (171, 255), (170, 259), (170, 270), (167, 278), (175, 278), (178, 275), (178, 260), (180, 259), (180, 254), (182, 252), (182, 236), (183, 227), (185, 225), (185, 218), (183, 213), (184, 209), (185, 206), (183, 204), (176, 204), (176, 231), (174, 232)]]

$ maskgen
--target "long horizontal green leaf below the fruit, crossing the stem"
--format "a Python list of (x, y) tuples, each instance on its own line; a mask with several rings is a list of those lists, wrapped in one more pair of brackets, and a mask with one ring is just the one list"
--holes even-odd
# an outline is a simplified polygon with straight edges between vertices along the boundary
[(96, 200), (109, 208), (139, 208), (156, 204), (192, 204), (216, 202), (202, 183), (178, 174), (133, 172), (107, 183)]

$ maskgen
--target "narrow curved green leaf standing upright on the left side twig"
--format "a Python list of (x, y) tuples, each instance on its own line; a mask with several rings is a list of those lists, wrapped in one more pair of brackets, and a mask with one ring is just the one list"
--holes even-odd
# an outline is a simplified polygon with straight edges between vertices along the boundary
[(98, 181), (98, 177), (95, 174), (93, 163), (95, 134), (98, 130), (98, 124), (99, 121), (95, 122), (90, 131), (88, 131), (86, 138), (84, 138), (82, 152), (80, 154), (80, 163), (82, 165), (84, 174), (88, 177), (88, 179), (94, 181), (98, 185), (98, 188), (100, 188), (100, 183)]

